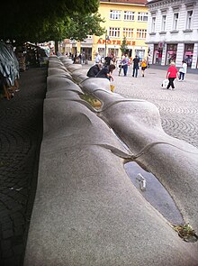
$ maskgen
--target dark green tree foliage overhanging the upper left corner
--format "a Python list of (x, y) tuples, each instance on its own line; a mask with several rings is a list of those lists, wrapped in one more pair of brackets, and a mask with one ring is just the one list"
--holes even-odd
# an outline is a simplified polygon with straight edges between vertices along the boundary
[[(85, 18), (89, 21), (91, 17), (97, 21), (97, 15), (92, 14), (97, 12), (98, 5), (98, 0), (4, 1), (4, 12), (0, 16), (0, 39), (17, 42), (62, 40), (68, 37), (67, 32), (71, 32), (72, 28), (80, 32), (79, 26), (75, 26), (77, 14), (84, 22)], [(86, 30), (89, 32), (88, 27)], [(85, 32), (85, 27), (82, 32)], [(81, 35), (75, 38), (81, 39)]]

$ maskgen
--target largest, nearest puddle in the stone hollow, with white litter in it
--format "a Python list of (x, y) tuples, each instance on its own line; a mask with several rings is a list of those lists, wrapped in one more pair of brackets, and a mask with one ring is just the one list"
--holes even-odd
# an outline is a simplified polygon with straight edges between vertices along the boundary
[(184, 219), (175, 206), (175, 201), (153, 174), (143, 170), (135, 161), (125, 163), (124, 169), (139, 193), (165, 216), (166, 220), (175, 225), (184, 225)]

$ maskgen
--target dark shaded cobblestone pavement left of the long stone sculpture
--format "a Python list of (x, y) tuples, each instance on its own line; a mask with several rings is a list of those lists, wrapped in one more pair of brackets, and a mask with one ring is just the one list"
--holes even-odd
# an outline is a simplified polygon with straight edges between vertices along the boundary
[(0, 265), (23, 265), (35, 195), (46, 69), (21, 73), (21, 90), (0, 100)]

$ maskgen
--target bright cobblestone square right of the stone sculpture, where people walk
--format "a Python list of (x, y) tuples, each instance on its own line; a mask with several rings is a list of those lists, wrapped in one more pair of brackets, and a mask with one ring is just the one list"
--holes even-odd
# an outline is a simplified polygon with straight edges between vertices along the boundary
[(146, 69), (145, 77), (114, 76), (115, 92), (132, 98), (147, 100), (157, 105), (164, 131), (198, 148), (198, 72), (186, 74), (184, 82), (175, 80), (175, 90), (163, 89), (166, 69)]

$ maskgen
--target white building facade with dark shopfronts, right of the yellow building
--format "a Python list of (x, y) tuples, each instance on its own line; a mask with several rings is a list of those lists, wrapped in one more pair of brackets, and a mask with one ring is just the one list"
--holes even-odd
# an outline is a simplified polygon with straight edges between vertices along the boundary
[(147, 4), (150, 64), (198, 68), (198, 1), (152, 0)]

